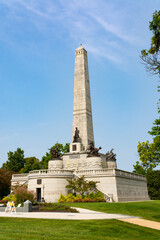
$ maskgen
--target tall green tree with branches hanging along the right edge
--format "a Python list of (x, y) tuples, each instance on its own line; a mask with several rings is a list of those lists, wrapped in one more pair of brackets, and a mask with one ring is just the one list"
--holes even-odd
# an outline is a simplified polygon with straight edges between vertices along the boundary
[[(141, 51), (141, 59), (149, 73), (160, 76), (160, 11), (154, 12), (149, 29), (153, 33), (151, 45), (149, 50)], [(160, 92), (160, 86), (158, 86), (158, 92)], [(160, 115), (160, 99), (158, 114)], [(152, 129), (148, 133), (152, 135), (153, 143), (149, 143), (149, 141), (138, 143), (139, 161), (133, 166), (134, 172), (141, 174), (152, 171), (160, 162), (160, 116), (154, 121)]]

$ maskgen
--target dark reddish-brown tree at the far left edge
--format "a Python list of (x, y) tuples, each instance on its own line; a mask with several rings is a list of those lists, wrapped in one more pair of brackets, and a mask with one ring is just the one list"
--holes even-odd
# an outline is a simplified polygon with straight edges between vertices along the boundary
[(9, 170), (0, 168), (0, 199), (10, 193), (12, 173)]

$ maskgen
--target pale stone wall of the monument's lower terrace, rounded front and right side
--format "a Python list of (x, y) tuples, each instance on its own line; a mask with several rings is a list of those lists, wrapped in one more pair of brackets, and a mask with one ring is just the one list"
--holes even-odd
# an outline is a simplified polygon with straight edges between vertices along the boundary
[[(12, 178), (12, 184), (14, 179), (21, 182), (21, 174), (16, 175)], [(145, 176), (107, 168), (78, 170), (75, 171), (75, 175), (98, 181), (98, 190), (106, 195), (112, 195), (115, 202), (149, 200)], [(66, 179), (73, 178), (74, 173), (70, 170), (36, 170), (25, 177), (29, 190), (41, 189), (41, 197), (46, 202), (57, 202), (60, 194), (67, 194)], [(24, 181), (23, 174), (22, 180)]]

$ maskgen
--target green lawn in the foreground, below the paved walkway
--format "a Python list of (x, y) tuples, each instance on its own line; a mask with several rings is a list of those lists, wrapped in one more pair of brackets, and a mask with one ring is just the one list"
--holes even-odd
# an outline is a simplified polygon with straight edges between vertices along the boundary
[(160, 231), (118, 220), (0, 218), (0, 240), (158, 240)]

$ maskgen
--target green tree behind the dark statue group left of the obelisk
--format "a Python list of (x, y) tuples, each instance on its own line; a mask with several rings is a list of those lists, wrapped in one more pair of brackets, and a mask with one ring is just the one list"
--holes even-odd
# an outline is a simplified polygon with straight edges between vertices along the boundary
[[(58, 151), (60, 155), (62, 155), (63, 153), (69, 152), (69, 143), (66, 143), (65, 145), (61, 143), (56, 143), (53, 147), (56, 148), (57, 145), (58, 145)], [(46, 155), (42, 157), (42, 160), (40, 162), (41, 168), (43, 169), (48, 168), (48, 161), (52, 159), (52, 154), (50, 149), (49, 149), (49, 152), (46, 152)]]

